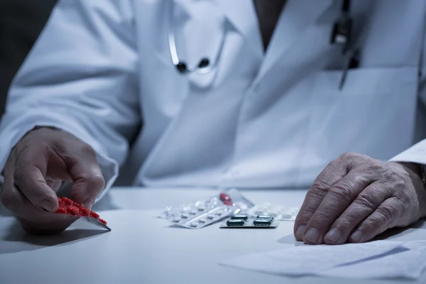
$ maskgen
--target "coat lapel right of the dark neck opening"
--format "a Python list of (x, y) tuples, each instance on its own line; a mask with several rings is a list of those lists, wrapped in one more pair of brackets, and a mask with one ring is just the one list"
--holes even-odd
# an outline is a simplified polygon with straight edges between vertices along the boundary
[(297, 44), (297, 40), (309, 26), (319, 24), (318, 20), (327, 16), (327, 12), (333, 9), (332, 4), (335, 2), (333, 0), (288, 0), (278, 19), (256, 82), (261, 80), (290, 47)]

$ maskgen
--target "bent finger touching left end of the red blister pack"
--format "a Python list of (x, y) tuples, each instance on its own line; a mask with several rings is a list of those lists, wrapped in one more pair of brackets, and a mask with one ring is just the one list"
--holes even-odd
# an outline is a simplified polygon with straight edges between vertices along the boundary
[(32, 204), (55, 212), (58, 209), (58, 198), (47, 185), (43, 175), (47, 163), (45, 152), (39, 151), (38, 148), (28, 148), (17, 153), (13, 180), (14, 185)]

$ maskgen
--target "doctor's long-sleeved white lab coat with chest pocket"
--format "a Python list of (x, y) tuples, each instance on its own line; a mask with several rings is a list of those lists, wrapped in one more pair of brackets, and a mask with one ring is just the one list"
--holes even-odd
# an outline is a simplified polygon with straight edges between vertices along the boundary
[(169, 4), (59, 1), (10, 89), (0, 169), (35, 125), (89, 143), (107, 188), (128, 157), (129, 182), (151, 186), (307, 187), (345, 151), (426, 163), (426, 141), (410, 148), (426, 130), (426, 1), (352, 1), (361, 65), (342, 90), (339, 1), (288, 0), (265, 55), (252, 0), (175, 1), (180, 58), (224, 40), (217, 70), (190, 76), (170, 58)]

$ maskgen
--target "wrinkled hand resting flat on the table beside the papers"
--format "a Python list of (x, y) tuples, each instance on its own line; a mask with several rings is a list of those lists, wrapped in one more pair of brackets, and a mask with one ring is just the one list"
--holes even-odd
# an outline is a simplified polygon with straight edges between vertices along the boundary
[(420, 166), (344, 153), (310, 187), (294, 234), (306, 244), (359, 243), (425, 216)]

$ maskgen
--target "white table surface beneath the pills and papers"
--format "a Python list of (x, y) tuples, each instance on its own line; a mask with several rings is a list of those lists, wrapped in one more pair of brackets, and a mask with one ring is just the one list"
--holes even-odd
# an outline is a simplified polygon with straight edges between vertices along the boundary
[[(203, 229), (168, 227), (156, 218), (168, 205), (191, 202), (212, 190), (111, 190), (95, 209), (112, 231), (77, 221), (58, 236), (29, 236), (13, 217), (0, 217), (0, 283), (426, 283), (408, 280), (288, 278), (219, 266), (247, 253), (299, 245), (293, 222), (277, 229)], [(243, 191), (256, 203), (300, 206), (304, 190)], [(391, 231), (393, 240), (426, 239), (426, 226)], [(320, 260), (319, 260), (320, 261)]]

